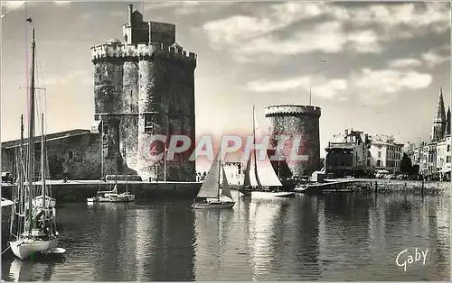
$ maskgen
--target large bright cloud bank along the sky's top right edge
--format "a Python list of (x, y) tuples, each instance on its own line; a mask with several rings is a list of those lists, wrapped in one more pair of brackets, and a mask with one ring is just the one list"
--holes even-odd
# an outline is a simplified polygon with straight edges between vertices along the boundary
[[(379, 53), (383, 43), (412, 36), (414, 33), (407, 31), (407, 27), (415, 32), (421, 27), (432, 27), (434, 32), (449, 28), (447, 5), (422, 7), (404, 4), (345, 8), (325, 3), (287, 2), (268, 5), (264, 11), (257, 9), (254, 15), (232, 15), (204, 23), (202, 28), (213, 49), (229, 51), (239, 61), (252, 60), (262, 53), (278, 56), (344, 50)], [(311, 21), (321, 18), (323, 23)], [(294, 27), (296, 23), (301, 29)], [(286, 36), (281, 37), (280, 32)]]

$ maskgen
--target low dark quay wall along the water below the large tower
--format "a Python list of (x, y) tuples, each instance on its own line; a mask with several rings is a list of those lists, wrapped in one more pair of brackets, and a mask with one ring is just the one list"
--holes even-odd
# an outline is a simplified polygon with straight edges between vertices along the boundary
[[(36, 186), (41, 182), (34, 182)], [(118, 182), (100, 180), (46, 180), (46, 185), (52, 188), (52, 197), (58, 203), (86, 202), (88, 197), (92, 197), (99, 190), (110, 190), (118, 184), (118, 191), (126, 191), (126, 181)], [(199, 192), (202, 183), (200, 182), (143, 182), (127, 181), (127, 189), (135, 194), (137, 200), (148, 199), (193, 199)], [(2, 184), (2, 196), (11, 198), (14, 185)]]

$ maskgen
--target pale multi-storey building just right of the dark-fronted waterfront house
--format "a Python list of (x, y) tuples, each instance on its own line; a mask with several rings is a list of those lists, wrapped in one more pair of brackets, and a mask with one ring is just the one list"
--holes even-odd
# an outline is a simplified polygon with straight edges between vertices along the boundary
[(366, 160), (368, 169), (400, 172), (403, 144), (395, 142), (394, 138), (388, 135), (374, 135), (370, 139), (372, 143)]

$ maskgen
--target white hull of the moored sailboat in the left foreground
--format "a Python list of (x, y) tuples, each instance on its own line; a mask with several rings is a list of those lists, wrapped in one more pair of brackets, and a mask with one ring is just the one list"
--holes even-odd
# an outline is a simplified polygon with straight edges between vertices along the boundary
[(21, 260), (25, 260), (29, 258), (33, 253), (49, 251), (51, 249), (58, 248), (58, 239), (52, 239), (48, 241), (25, 239), (9, 242), (9, 244), (14, 255)]

